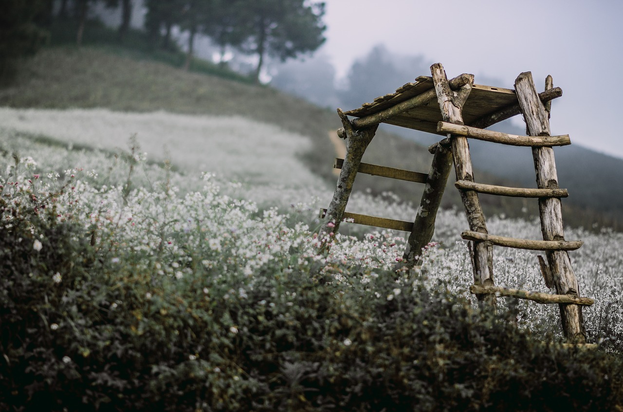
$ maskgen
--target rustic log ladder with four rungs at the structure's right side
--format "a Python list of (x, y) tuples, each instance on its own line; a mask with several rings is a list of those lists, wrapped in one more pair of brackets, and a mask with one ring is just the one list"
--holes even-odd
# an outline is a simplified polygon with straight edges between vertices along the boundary
[[(528, 136), (516, 136), (463, 124), (462, 106), (467, 100), (470, 85), (452, 90), (444, 68), (439, 63), (431, 67), (435, 92), (444, 121), (439, 122), (437, 131), (447, 133), (447, 138), (437, 146), (451, 147), (457, 174), (455, 186), (460, 190), (470, 230), (462, 233), (469, 240), (472, 256), (474, 284), (470, 291), (480, 301), (495, 304), (496, 296), (510, 296), (530, 299), (544, 304), (559, 304), (563, 332), (566, 339), (575, 343), (586, 342), (584, 319), (581, 307), (591, 305), (593, 299), (579, 297), (578, 280), (571, 268), (568, 251), (582, 246), (582, 241), (564, 240), (561, 197), (567, 197), (566, 189), (559, 189), (558, 176), (552, 146), (571, 144), (568, 135), (550, 136), (550, 103), (541, 102), (530, 72), (521, 73), (515, 80), (515, 90), (521, 113), (526, 122)], [(546, 90), (553, 88), (551, 76), (546, 80)], [(474, 181), (472, 161), (467, 138), (480, 139), (513, 146), (532, 147), (538, 189), (523, 189), (479, 184)], [(478, 200), (478, 193), (532, 197), (539, 202), (541, 232), (543, 240), (526, 240), (490, 235)], [(548, 288), (556, 288), (556, 294), (535, 293), (520, 289), (500, 288), (493, 283), (493, 245), (545, 251), (547, 263), (538, 256), (541, 272)]]

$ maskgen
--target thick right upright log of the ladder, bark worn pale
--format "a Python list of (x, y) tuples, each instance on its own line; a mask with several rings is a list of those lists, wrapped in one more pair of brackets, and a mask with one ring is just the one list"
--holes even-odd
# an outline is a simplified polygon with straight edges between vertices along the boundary
[[(546, 87), (553, 87), (551, 79)], [(549, 136), (549, 113), (538, 98), (534, 80), (530, 72), (521, 73), (515, 80), (515, 90), (521, 106), (521, 113), (526, 121), (530, 136)], [(558, 189), (558, 174), (551, 147), (533, 147), (536, 183), (540, 189)], [(564, 240), (561, 202), (558, 198), (539, 199), (541, 232), (543, 240)], [(566, 251), (548, 251), (546, 253), (549, 271), (553, 277), (556, 293), (578, 296), (578, 279), (571, 268), (571, 261)], [(585, 343), (586, 331), (582, 307), (575, 304), (560, 304), (563, 332), (571, 342)]]

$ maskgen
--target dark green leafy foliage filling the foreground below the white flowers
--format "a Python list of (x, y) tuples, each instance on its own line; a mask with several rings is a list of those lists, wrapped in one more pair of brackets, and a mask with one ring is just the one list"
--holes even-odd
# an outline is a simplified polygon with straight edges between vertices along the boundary
[(168, 276), (135, 248), (106, 258), (107, 238), (93, 245), (90, 228), (57, 218), (54, 193), (32, 205), (7, 193), (2, 410), (623, 405), (621, 355), (534, 340), (516, 327), (512, 307), (475, 311), (443, 284), (366, 268), (335, 276), (339, 266), (310, 268), (296, 251), (290, 265), (273, 261), (252, 276), (192, 260), (183, 277)]

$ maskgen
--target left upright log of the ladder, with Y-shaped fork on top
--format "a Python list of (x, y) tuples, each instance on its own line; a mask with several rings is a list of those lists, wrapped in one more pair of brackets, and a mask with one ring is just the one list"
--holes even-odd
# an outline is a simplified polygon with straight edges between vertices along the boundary
[[(440, 63), (435, 63), (430, 67), (432, 78), (435, 83), (435, 91), (439, 108), (444, 121), (454, 124), (463, 124), (462, 107), (467, 100), (467, 96), (472, 90), (473, 75), (470, 75), (470, 82), (457, 91), (450, 90), (450, 86), (445, 75), (444, 67)], [(457, 180), (468, 180), (473, 182), (472, 158), (469, 153), (469, 146), (465, 136), (455, 136), (448, 134), (452, 142), (452, 156), (454, 157), (454, 169), (457, 173)], [(461, 199), (467, 214), (467, 221), (470, 230), (488, 234), (485, 223), (485, 215), (480, 206), (477, 192), (473, 190), (462, 190)], [(473, 282), (480, 285), (493, 285), (493, 245), (488, 241), (475, 241), (473, 244)], [(487, 299), (490, 304), (495, 304), (495, 295), (477, 295), (479, 300)]]

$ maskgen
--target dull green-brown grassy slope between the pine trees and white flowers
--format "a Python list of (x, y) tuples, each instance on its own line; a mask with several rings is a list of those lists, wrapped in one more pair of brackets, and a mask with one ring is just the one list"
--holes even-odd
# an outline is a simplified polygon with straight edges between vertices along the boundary
[[(0, 89), (0, 106), (165, 110), (193, 115), (244, 116), (310, 138), (312, 146), (303, 154), (303, 161), (313, 172), (335, 184), (331, 169), (335, 147), (328, 133), (341, 124), (333, 111), (270, 87), (184, 72), (172, 65), (148, 60), (145, 54), (138, 56), (131, 50), (123, 50), (126, 49), (110, 46), (44, 49), (22, 62), (15, 82)], [(428, 171), (431, 159), (425, 147), (385, 131), (379, 131), (364, 156), (366, 162), (421, 172)], [(477, 171), (477, 176), (490, 184), (520, 185), (514, 183), (514, 179), (487, 172)], [(361, 176), (355, 190), (369, 190), (373, 194), (393, 192), (407, 202), (418, 204), (422, 187), (399, 180)], [(506, 213), (525, 217), (538, 213), (536, 202), (487, 195), (481, 199), (487, 215)], [(566, 223), (591, 227), (592, 223), (599, 222), (600, 215), (593, 211), (594, 207), (584, 203), (580, 209), (574, 209), (568, 206), (570, 203), (566, 202)], [(462, 208), (457, 190), (451, 185), (442, 205)]]

